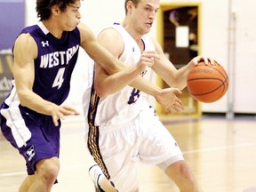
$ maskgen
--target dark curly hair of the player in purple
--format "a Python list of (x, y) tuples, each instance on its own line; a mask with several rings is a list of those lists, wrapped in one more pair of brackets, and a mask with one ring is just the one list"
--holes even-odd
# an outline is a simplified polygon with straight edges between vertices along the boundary
[(57, 5), (61, 12), (65, 12), (68, 4), (75, 4), (78, 0), (36, 0), (36, 12), (39, 20), (48, 20), (52, 11), (51, 8)]

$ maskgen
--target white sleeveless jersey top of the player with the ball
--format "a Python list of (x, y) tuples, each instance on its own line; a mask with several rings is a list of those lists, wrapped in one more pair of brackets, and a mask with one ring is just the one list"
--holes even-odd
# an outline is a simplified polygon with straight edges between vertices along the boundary
[[(116, 29), (124, 41), (124, 52), (121, 54), (119, 60), (127, 65), (136, 64), (141, 56), (139, 45), (122, 25), (115, 23), (110, 28)], [(155, 50), (155, 46), (148, 35), (142, 36), (142, 41), (145, 44), (145, 50)], [(141, 76), (144, 76), (146, 72), (141, 74)], [(92, 93), (91, 89), (88, 89), (84, 93), (84, 114), (86, 116), (88, 114), (90, 93)], [(129, 122), (140, 113), (144, 106), (141, 104), (146, 100), (142, 96), (143, 93), (141, 94), (139, 90), (130, 86), (125, 86), (120, 92), (108, 95), (105, 98), (97, 98), (95, 94), (91, 94), (89, 104), (91, 105), (91, 108), (89, 107), (89, 114), (91, 114), (91, 121), (93, 121), (95, 126), (118, 125)], [(95, 113), (92, 115), (92, 112)]]

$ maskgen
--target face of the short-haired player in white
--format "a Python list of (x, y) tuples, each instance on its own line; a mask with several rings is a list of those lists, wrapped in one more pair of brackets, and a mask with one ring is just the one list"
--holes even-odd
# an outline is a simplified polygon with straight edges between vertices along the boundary
[(140, 0), (137, 7), (132, 6), (132, 22), (141, 35), (147, 34), (154, 20), (156, 19), (156, 12), (159, 9), (159, 0)]

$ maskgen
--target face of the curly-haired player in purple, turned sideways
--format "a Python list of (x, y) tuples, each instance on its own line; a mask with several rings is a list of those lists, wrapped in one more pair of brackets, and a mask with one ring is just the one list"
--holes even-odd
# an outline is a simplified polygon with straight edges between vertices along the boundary
[(71, 31), (76, 28), (82, 17), (79, 12), (80, 6), (80, 1), (76, 1), (75, 4), (69, 4), (65, 12), (61, 12), (60, 22), (63, 30)]

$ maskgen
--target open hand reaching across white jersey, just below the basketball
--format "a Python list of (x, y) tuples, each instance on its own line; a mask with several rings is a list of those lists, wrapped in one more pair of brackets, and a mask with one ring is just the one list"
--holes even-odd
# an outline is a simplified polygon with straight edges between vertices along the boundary
[(178, 88), (166, 88), (156, 95), (156, 101), (164, 106), (168, 113), (180, 113), (184, 110), (182, 101), (176, 96), (182, 92)]

